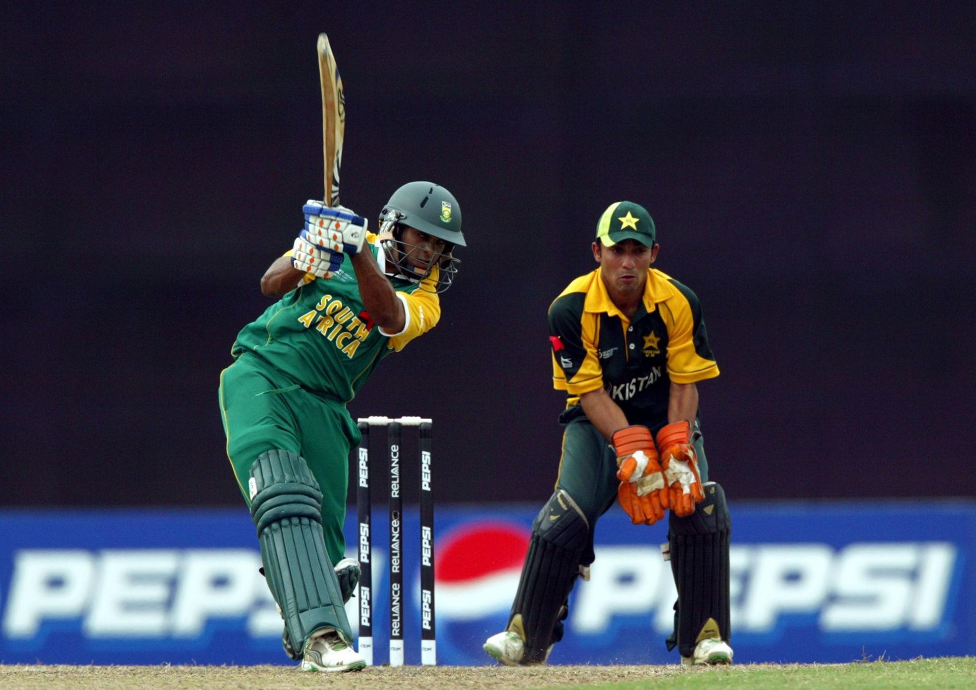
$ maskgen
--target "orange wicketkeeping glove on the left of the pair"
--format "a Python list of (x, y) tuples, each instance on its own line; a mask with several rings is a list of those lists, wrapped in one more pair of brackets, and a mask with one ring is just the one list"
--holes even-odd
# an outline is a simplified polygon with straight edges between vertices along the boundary
[(669, 490), (646, 426), (625, 426), (613, 434), (617, 451), (617, 496), (635, 525), (652, 525), (665, 516)]

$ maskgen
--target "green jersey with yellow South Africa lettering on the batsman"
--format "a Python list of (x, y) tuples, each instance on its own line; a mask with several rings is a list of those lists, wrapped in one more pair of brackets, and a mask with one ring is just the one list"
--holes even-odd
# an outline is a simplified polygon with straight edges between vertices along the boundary
[[(386, 259), (377, 235), (366, 235), (363, 250), (367, 248), (383, 265)], [(435, 274), (429, 276), (423, 288), (390, 279), (406, 310), (406, 323), (400, 333), (385, 333), (366, 312), (346, 257), (328, 280), (306, 273), (298, 288), (237, 334), (231, 354), (235, 359), (244, 352), (257, 354), (296, 384), (348, 402), (380, 360), (437, 325), (436, 279)]]

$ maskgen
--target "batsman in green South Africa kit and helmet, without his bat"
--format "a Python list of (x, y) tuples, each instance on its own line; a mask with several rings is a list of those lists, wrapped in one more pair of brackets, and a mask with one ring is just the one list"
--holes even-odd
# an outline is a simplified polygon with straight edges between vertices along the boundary
[(304, 213), (292, 250), (261, 280), (279, 299), (233, 345), (221, 411), (285, 652), (303, 670), (360, 670), (344, 607), (359, 580), (344, 558), (348, 454), (360, 439), (346, 403), (380, 360), (440, 320), (438, 293), (465, 237), (458, 200), (433, 183), (393, 192), (379, 235), (345, 208), (309, 201)]

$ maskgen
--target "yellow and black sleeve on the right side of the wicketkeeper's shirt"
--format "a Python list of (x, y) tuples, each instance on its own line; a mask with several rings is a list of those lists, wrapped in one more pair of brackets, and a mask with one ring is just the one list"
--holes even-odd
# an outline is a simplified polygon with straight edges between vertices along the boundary
[[(677, 287), (677, 286), (675, 286)], [(684, 288), (684, 286), (681, 286)], [(694, 384), (718, 376), (698, 298), (687, 288), (660, 304), (668, 327), (668, 376), (675, 384)]]

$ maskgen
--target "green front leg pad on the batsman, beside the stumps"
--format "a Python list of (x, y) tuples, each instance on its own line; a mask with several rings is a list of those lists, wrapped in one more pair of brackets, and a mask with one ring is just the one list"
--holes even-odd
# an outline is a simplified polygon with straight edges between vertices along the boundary
[(251, 466), (249, 489), (267, 586), (296, 651), (320, 628), (338, 630), (351, 644), (352, 629), (322, 534), (322, 493), (305, 460), (290, 451), (263, 453)]

